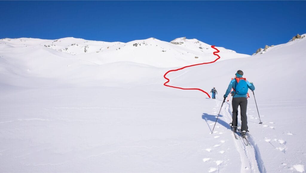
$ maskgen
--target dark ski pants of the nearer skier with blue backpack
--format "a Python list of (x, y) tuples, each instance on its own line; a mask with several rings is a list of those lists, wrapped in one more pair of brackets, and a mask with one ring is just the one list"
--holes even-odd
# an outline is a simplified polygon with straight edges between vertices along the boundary
[(248, 100), (245, 97), (235, 97), (232, 100), (233, 106), (233, 126), (237, 126), (238, 106), (240, 106), (241, 131), (248, 130), (247, 106)]

